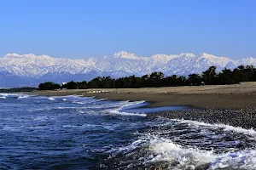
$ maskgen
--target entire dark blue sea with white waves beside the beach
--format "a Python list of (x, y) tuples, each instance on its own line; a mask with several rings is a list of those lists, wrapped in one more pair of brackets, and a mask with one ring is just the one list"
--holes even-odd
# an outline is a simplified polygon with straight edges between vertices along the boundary
[(144, 101), (0, 94), (0, 169), (256, 169), (253, 129), (150, 118)]

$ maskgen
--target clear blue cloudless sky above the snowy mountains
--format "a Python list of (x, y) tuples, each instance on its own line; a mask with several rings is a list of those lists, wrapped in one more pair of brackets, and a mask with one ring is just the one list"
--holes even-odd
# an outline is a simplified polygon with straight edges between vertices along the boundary
[(256, 58), (254, 0), (2, 0), (0, 56)]

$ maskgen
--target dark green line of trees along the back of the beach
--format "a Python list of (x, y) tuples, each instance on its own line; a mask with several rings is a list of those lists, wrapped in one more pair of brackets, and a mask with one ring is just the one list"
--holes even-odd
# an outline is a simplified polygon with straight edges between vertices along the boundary
[(256, 82), (256, 69), (253, 65), (240, 65), (234, 70), (225, 68), (217, 72), (216, 66), (210, 66), (201, 74), (189, 74), (188, 77), (172, 75), (165, 77), (164, 73), (154, 71), (143, 77), (96, 77), (90, 82), (67, 82), (60, 85), (54, 82), (40, 83), (39, 90), (53, 90), (60, 88), (86, 89), (86, 88), (159, 88), (177, 86), (224, 85), (239, 82)]

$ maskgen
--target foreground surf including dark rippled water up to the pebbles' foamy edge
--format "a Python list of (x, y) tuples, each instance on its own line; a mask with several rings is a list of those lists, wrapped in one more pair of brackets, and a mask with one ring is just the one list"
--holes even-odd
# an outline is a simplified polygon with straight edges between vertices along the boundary
[(108, 161), (125, 155), (118, 165), (125, 169), (256, 169), (253, 129), (177, 119), (151, 126), (131, 144), (108, 150)]

